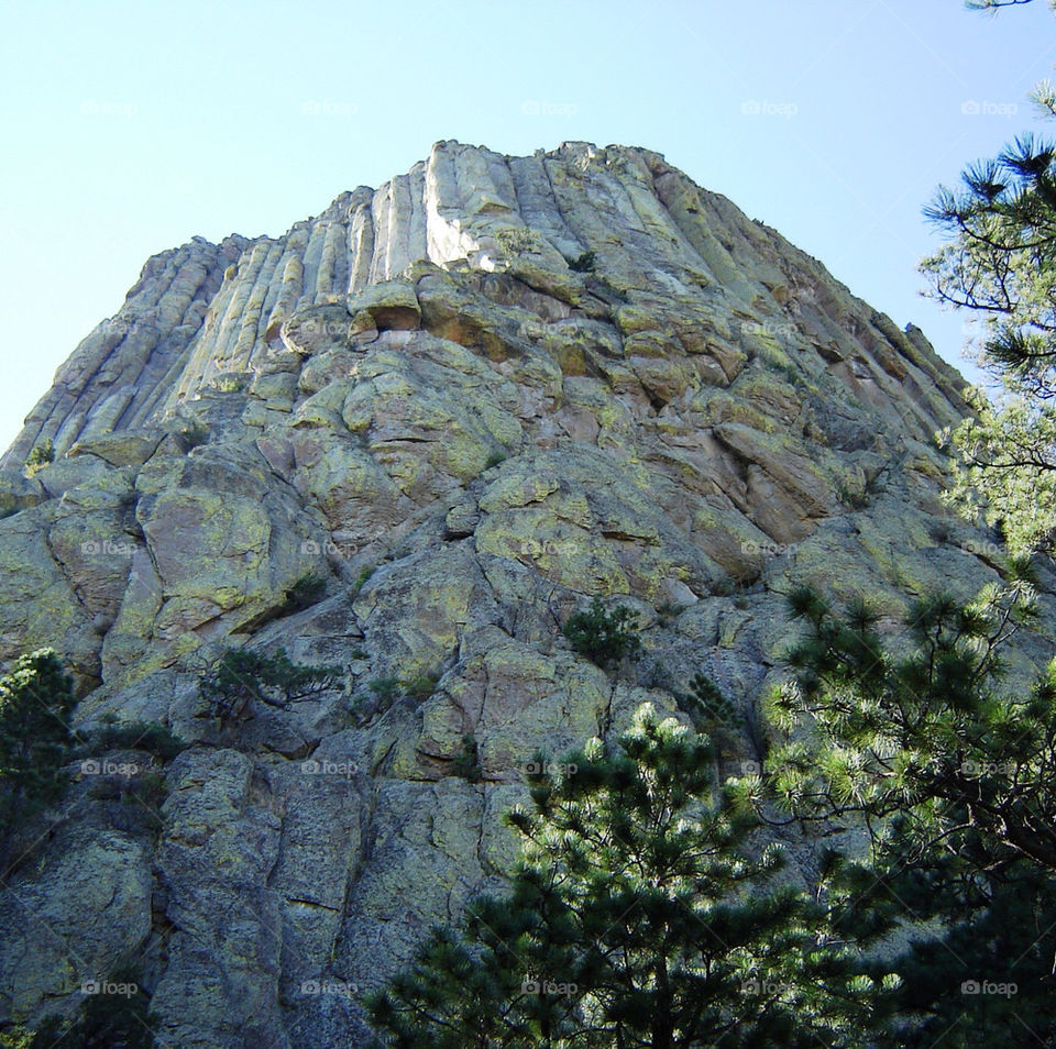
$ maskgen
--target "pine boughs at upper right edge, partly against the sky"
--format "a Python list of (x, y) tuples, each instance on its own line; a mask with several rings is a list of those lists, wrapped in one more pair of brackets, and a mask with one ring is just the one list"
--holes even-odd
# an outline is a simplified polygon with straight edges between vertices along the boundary
[[(1023, 0), (1019, 0), (1023, 2)], [(1016, 0), (977, 0), (996, 10)], [(1056, 88), (1034, 100), (1056, 114)], [(941, 187), (925, 214), (950, 243), (925, 258), (931, 296), (978, 314), (979, 363), (998, 384), (968, 393), (974, 416), (949, 434), (950, 501), (1001, 527), (1013, 552), (1056, 549), (1056, 147), (1023, 135)]]

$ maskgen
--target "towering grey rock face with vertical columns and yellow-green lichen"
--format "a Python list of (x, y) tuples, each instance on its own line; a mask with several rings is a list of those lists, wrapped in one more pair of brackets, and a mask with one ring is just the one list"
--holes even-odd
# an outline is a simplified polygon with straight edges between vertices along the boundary
[[(997, 577), (938, 501), (961, 388), (638, 148), (443, 142), (283, 238), (151, 260), (0, 463), (0, 660), (52, 644), (85, 731), (187, 746), (150, 782), (78, 766), (42, 817), (0, 894), (0, 1023), (131, 957), (162, 1046), (360, 1044), (363, 993), (510, 862), (537, 748), (675, 710), (701, 670), (758, 760), (784, 584), (893, 616)], [(561, 634), (594, 595), (639, 617), (618, 674)], [(232, 644), (343, 682), (221, 731), (199, 678)]]

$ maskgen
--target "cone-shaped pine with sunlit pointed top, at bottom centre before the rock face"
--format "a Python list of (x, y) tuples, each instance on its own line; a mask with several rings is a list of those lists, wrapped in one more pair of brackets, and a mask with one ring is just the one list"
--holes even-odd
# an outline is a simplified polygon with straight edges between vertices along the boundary
[[(433, 934), (370, 1008), (398, 1049), (862, 1045), (869, 980), (713, 793), (706, 738), (642, 707), (515, 809), (508, 896)], [(573, 771), (574, 770), (574, 771)], [(890, 990), (890, 982), (889, 982)]]

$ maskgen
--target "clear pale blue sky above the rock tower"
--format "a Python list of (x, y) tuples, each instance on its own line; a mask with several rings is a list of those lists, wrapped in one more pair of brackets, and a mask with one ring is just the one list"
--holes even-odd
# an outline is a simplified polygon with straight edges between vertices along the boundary
[(0, 446), (148, 255), (278, 234), (440, 139), (663, 153), (963, 363), (921, 207), (1044, 130), (1054, 62), (1046, 0), (6, 0)]

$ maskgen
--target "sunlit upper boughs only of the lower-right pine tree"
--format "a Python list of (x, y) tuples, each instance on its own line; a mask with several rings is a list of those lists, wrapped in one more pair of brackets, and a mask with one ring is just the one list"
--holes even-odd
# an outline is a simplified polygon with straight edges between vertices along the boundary
[(779, 796), (804, 819), (867, 816), (881, 843), (898, 817), (922, 853), (978, 840), (987, 868), (1027, 858), (1056, 873), (1056, 662), (1031, 688), (1001, 689), (1001, 648), (1035, 617), (1033, 597), (1021, 577), (968, 605), (916, 601), (900, 654), (867, 603), (840, 617), (794, 590), (806, 632), (788, 653), (794, 681), (769, 703), (800, 730), (771, 754)]

